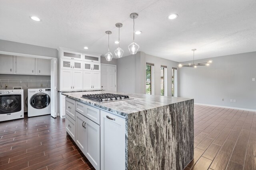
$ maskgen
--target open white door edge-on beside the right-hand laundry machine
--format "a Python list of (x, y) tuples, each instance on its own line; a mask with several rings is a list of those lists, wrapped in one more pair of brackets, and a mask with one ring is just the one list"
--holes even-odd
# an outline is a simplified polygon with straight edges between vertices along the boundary
[(57, 116), (57, 59), (51, 59), (51, 116)]

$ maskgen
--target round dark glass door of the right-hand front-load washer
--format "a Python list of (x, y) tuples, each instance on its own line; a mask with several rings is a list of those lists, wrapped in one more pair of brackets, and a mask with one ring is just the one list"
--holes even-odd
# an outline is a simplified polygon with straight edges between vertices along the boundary
[(36, 93), (30, 98), (30, 105), (35, 109), (44, 109), (50, 104), (50, 96), (46, 93)]

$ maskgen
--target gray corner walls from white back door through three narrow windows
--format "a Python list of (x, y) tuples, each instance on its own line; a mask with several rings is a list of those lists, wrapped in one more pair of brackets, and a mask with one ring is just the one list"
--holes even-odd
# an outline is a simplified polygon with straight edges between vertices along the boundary
[(130, 93), (146, 93), (146, 63), (153, 63), (155, 70), (155, 95), (160, 95), (160, 68), (167, 66), (168, 96), (172, 96), (172, 67), (178, 67), (178, 63), (167, 59), (162, 59), (152, 55), (138, 52), (117, 59), (117, 91)]

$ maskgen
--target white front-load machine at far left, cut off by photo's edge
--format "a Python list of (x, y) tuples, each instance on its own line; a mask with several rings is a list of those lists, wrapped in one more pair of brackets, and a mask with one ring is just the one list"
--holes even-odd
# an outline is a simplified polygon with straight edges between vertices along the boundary
[(0, 90), (0, 121), (24, 118), (23, 89)]

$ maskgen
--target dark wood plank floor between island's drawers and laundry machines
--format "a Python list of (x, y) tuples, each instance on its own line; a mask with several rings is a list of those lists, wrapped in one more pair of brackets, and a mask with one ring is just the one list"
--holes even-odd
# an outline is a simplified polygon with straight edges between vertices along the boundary
[(94, 170), (50, 115), (0, 122), (0, 170)]

